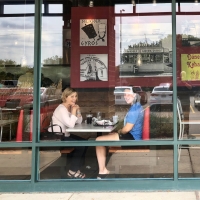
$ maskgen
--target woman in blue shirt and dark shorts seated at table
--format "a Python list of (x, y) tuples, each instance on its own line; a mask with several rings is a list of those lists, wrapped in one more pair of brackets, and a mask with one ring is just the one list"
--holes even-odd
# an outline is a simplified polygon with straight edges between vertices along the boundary
[[(143, 127), (143, 108), (139, 102), (139, 95), (133, 92), (133, 88), (127, 87), (124, 90), (124, 99), (131, 107), (125, 116), (124, 127), (117, 133), (110, 133), (97, 137), (96, 141), (105, 140), (141, 140)], [(96, 155), (99, 165), (98, 179), (105, 178), (110, 172), (106, 168), (106, 147), (96, 146)]]

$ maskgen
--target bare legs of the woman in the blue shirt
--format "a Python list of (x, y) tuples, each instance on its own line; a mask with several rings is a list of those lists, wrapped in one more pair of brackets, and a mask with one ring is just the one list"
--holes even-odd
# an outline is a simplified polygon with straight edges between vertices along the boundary
[[(119, 140), (118, 133), (111, 133), (97, 137), (96, 141)], [(99, 174), (109, 174), (106, 168), (106, 147), (96, 146), (96, 155), (99, 164)]]

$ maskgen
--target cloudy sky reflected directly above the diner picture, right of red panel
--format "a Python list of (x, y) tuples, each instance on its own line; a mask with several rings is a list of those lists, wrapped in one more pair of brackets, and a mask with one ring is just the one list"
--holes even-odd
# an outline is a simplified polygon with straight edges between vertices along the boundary
[(139, 44), (140, 42), (152, 44), (160, 40), (162, 40), (162, 47), (170, 51), (172, 50), (172, 40), (165, 39), (171, 35), (171, 16), (116, 17), (116, 66), (120, 64), (120, 42), (122, 52), (128, 49), (129, 45)]

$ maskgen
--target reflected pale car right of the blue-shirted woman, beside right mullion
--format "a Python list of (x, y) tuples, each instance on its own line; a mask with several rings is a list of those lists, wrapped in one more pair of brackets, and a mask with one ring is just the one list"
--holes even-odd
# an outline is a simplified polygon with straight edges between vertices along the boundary
[(156, 86), (153, 88), (149, 102), (152, 103), (171, 103), (173, 91), (170, 90), (169, 86)]

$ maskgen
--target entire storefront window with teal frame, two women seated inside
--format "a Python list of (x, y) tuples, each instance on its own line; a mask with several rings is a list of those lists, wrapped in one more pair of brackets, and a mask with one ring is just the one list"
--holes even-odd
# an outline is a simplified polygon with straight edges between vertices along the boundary
[(198, 2), (31, 3), (0, 4), (0, 179), (198, 177)]

